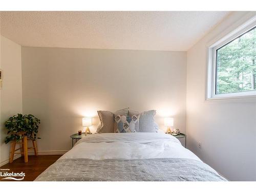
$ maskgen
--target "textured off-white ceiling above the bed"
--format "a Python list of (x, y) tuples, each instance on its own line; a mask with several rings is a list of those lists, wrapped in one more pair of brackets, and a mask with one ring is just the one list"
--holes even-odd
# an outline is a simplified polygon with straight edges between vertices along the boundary
[(229, 12), (1, 12), (22, 46), (186, 51)]

